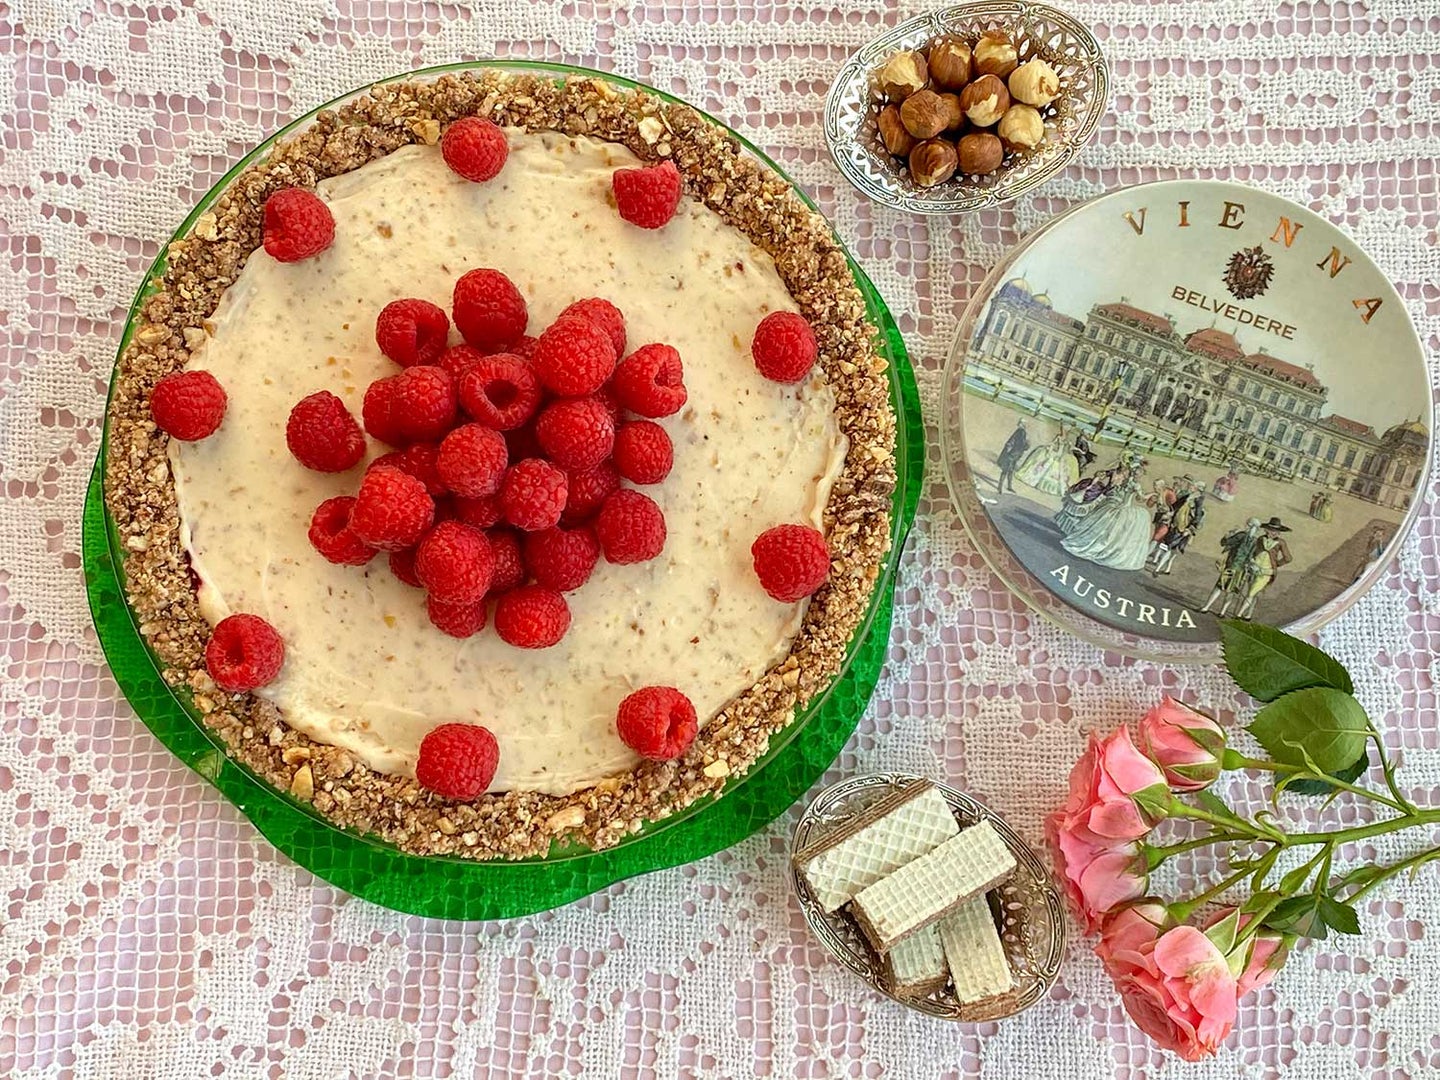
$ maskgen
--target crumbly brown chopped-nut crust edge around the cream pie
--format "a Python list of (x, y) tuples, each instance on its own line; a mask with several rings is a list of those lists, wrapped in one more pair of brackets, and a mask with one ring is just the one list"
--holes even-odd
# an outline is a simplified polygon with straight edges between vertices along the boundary
[[(459, 804), (413, 779), (373, 772), (350, 753), (289, 729), (268, 701), (216, 688), (204, 670), (210, 626), (200, 616), (180, 543), (168, 438), (150, 419), (150, 390), (184, 367), (190, 348), (204, 340), (206, 320), (261, 243), (271, 193), (314, 187), (396, 147), (433, 144), (445, 124), (468, 115), (503, 127), (593, 135), (621, 143), (642, 160), (672, 160), (690, 197), (775, 259), (815, 328), (850, 452), (825, 507), (829, 582), (812, 598), (789, 655), (720, 710), (684, 757), (645, 762), (572, 795), (495, 792)], [(336, 825), (418, 855), (523, 858), (546, 854), (553, 842), (612, 847), (645, 822), (719, 793), (840, 672), (890, 549), (896, 416), (886, 360), (825, 220), (694, 109), (593, 78), (562, 84), (480, 71), (382, 84), (320, 112), (240, 173), (193, 232), (170, 245), (157, 285), (118, 361), (108, 416), (105, 501), (125, 550), (125, 592), (166, 680), (192, 694), (228, 753), (275, 788), (312, 802)]]

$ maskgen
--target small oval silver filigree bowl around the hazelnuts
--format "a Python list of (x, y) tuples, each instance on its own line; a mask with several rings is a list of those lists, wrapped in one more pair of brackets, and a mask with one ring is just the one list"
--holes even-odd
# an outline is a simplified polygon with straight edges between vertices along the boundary
[[(920, 187), (880, 143), (881, 102), (871, 73), (897, 49), (919, 49), (948, 33), (975, 39), (994, 27), (1008, 30), (1022, 56), (1041, 56), (1060, 73), (1064, 92), (1043, 109), (1045, 141), (989, 176), (956, 174)], [(914, 213), (965, 213), (1025, 194), (1070, 164), (1094, 134), (1109, 99), (1110, 69), (1083, 24), (1045, 4), (981, 0), (900, 23), (845, 60), (825, 99), (825, 144), (845, 179), (878, 203)]]

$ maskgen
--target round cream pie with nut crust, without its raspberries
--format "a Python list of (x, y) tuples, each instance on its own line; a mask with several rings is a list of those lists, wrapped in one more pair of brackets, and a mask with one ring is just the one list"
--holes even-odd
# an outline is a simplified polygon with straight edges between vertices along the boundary
[[(465, 117), (504, 132), (508, 157), (484, 183), (442, 154)], [(664, 161), (683, 180), (678, 209), (636, 228), (612, 176)], [(287, 189), (314, 192), (333, 217), (312, 258), (256, 251), (266, 200)], [(292, 406), (321, 390), (373, 435), (367, 393), (400, 370), (377, 346), (377, 312), (400, 298), (449, 308), (480, 268), (523, 295), (528, 336), (544, 341), (572, 304), (603, 297), (626, 351), (664, 343), (684, 361), (684, 405), (654, 420), (672, 462), (658, 482), (626, 484), (662, 511), (664, 549), (600, 557), (564, 593), (567, 629), (549, 648), (501, 639), (503, 600), (495, 626), (441, 632), (383, 552), (360, 566), (321, 557), (311, 513), (354, 495), (392, 446), (369, 438), (360, 464), (324, 472), (287, 445)], [(756, 372), (752, 334), (770, 312), (814, 331), (818, 360), (799, 382)], [(171, 439), (153, 419), (157, 382), (179, 370), (225, 389), (210, 438)], [(140, 631), (230, 756), (405, 851), (527, 857), (612, 845), (720, 792), (828, 685), (888, 550), (894, 425), (848, 261), (783, 179), (684, 105), (484, 71), (384, 84), (321, 112), (170, 246), (118, 364), (105, 492)], [(782, 523), (821, 530), (831, 560), (827, 583), (792, 603), (752, 567), (752, 541)], [(284, 639), (279, 675), (245, 693), (206, 664), (212, 626), (236, 612)], [(652, 685), (681, 688), (700, 721), (670, 760), (616, 732), (618, 703)], [(418, 747), (442, 723), (498, 742), (478, 798), (416, 780)]]

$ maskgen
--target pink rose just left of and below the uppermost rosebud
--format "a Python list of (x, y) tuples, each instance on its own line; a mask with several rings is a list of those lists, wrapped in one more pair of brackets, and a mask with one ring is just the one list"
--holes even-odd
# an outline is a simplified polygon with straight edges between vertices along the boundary
[(1096, 847), (1140, 840), (1165, 816), (1165, 773), (1119, 727), (1103, 742), (1094, 734), (1070, 770), (1070, 798), (1060, 814), (1066, 832)]

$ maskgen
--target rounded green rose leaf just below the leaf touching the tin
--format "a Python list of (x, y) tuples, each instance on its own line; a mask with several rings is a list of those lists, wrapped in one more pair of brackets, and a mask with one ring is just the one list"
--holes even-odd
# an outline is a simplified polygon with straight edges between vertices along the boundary
[(1365, 756), (1368, 732), (1369, 717), (1359, 701), (1331, 687), (1296, 690), (1267, 704), (1250, 721), (1250, 733), (1272, 759), (1302, 769), (1313, 762), (1331, 776), (1354, 769)]

